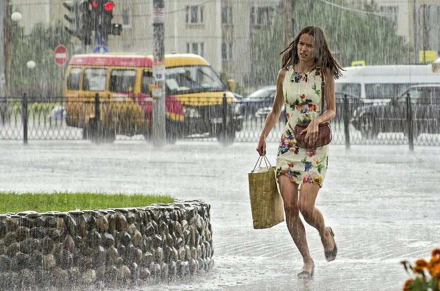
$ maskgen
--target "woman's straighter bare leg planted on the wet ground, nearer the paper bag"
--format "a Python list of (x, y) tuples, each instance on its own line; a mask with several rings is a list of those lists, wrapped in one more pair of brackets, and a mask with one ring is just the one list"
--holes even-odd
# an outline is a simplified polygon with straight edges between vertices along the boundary
[(290, 181), (286, 176), (280, 176), (278, 179), (280, 184), (281, 196), (284, 201), (284, 212), (286, 214), (286, 224), (293, 242), (298, 248), (302, 256), (304, 266), (302, 271), (312, 272), (315, 264), (309, 252), (309, 245), (305, 237), (305, 229), (299, 218), (298, 208), (298, 184)]

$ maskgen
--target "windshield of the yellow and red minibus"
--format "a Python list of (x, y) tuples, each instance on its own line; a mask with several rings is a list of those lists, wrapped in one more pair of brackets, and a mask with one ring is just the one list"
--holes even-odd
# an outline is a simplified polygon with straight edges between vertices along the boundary
[(167, 68), (165, 84), (168, 94), (225, 90), (225, 85), (210, 66)]

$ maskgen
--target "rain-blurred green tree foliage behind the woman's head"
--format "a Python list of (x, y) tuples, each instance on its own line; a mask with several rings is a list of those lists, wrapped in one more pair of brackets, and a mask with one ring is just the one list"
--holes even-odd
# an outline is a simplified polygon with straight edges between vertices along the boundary
[[(345, 0), (333, 3), (349, 7)], [(405, 64), (413, 58), (405, 38), (395, 33), (393, 18), (344, 10), (317, 0), (296, 0), (294, 5), (295, 9), (291, 12), (293, 35), (304, 26), (320, 26), (342, 66), (349, 66), (355, 60), (364, 60), (367, 65)], [(374, 2), (366, 2), (362, 10), (379, 11)], [(284, 8), (277, 8), (277, 11), (279, 13), (275, 14), (272, 27), (254, 30), (251, 36), (255, 56), (250, 85), (275, 84), (281, 67), (279, 53), (283, 50), (284, 36)]]

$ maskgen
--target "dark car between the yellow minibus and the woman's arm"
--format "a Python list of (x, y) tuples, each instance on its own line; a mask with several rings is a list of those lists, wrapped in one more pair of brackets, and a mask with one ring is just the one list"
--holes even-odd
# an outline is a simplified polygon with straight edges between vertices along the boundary
[(275, 99), (277, 86), (267, 86), (243, 97), (241, 102), (241, 111), (244, 116), (255, 117), (259, 108), (272, 107)]

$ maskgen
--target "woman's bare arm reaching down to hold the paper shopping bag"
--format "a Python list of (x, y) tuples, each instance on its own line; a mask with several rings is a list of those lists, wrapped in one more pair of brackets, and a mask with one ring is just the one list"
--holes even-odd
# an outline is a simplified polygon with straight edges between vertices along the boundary
[(278, 118), (281, 114), (281, 109), (283, 108), (284, 103), (284, 96), (283, 96), (283, 81), (284, 76), (286, 74), (286, 71), (284, 69), (281, 69), (278, 72), (277, 77), (277, 93), (275, 95), (274, 104), (272, 106), (271, 111), (268, 114), (268, 117), (266, 117), (265, 126), (263, 127), (263, 130), (261, 131), (261, 135), (258, 141), (257, 146), (257, 152), (260, 155), (266, 154), (266, 137), (269, 135), (271, 130), (274, 128), (275, 124), (278, 121)]

